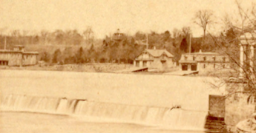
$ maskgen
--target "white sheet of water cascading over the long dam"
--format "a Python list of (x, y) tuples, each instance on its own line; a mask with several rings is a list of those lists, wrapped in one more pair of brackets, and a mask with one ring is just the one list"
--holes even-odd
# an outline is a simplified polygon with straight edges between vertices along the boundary
[(203, 129), (208, 112), (156, 106), (102, 103), (90, 100), (1, 95), (1, 110), (100, 117), (128, 123), (146, 123), (171, 129)]

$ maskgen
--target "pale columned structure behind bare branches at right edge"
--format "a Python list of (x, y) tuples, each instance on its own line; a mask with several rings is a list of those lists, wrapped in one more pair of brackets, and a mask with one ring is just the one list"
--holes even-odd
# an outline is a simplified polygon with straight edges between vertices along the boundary
[(245, 70), (254, 72), (256, 31), (244, 33), (240, 36), (240, 74), (239, 78), (245, 78)]

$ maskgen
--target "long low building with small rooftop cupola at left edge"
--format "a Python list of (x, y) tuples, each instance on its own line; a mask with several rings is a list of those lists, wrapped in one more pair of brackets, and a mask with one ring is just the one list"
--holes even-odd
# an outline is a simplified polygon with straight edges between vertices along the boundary
[(37, 64), (38, 52), (25, 52), (24, 46), (15, 46), (13, 50), (0, 50), (1, 66), (28, 66)]

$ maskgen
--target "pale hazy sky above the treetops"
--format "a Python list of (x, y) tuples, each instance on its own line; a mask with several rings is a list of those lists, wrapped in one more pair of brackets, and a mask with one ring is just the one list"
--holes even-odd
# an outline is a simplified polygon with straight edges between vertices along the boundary
[[(243, 1), (243, 0), (240, 0)], [(250, 5), (255, 0), (244, 0)], [(189, 26), (194, 36), (203, 30), (191, 18), (197, 10), (213, 10), (217, 17), (234, 13), (234, 0), (0, 0), (0, 28), (7, 30), (85, 30), (97, 38), (119, 28), (133, 35), (163, 33)], [(212, 30), (219, 27), (211, 27)], [(7, 31), (5, 30), (5, 31)]]

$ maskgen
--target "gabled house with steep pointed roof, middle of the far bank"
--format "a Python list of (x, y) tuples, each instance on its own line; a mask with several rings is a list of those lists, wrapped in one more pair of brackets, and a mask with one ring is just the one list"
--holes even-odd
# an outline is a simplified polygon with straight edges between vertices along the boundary
[(174, 55), (167, 50), (144, 50), (134, 60), (134, 66), (148, 67), (148, 69), (166, 69), (174, 66)]

